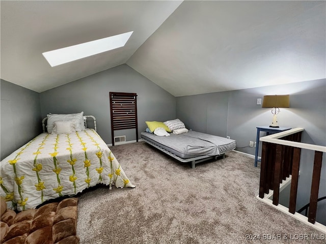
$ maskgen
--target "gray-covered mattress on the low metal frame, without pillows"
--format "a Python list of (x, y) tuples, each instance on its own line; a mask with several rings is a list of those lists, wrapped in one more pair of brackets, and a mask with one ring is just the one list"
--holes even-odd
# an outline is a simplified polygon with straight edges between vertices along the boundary
[(181, 159), (199, 156), (218, 156), (235, 149), (236, 141), (228, 138), (188, 131), (179, 135), (156, 136), (142, 132), (141, 138), (158, 145)]

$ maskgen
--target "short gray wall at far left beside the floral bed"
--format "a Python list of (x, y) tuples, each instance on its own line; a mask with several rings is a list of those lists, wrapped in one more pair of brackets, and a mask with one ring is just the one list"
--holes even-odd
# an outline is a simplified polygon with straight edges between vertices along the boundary
[(1, 160), (42, 132), (40, 96), (1, 79)]

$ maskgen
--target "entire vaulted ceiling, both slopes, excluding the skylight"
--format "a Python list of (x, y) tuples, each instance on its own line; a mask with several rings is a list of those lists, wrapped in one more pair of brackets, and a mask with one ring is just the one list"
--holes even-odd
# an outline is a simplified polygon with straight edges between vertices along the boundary
[[(1, 1), (1, 78), (44, 90), (127, 64), (172, 95), (326, 77), (325, 1)], [(51, 67), (42, 53), (133, 31)]]

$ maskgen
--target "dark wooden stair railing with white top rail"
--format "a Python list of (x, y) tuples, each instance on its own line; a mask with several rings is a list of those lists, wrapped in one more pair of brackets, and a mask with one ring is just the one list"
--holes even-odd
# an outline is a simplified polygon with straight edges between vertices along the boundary
[(302, 128), (297, 128), (260, 138), (262, 141), (262, 154), (259, 197), (264, 198), (264, 194), (268, 194), (269, 190), (273, 190), (273, 204), (277, 206), (279, 204), (280, 184), (286, 179), (286, 177), (291, 175), (288, 209), (291, 214), (294, 214), (296, 208), (301, 149), (305, 148), (314, 150), (315, 158), (308, 215), (308, 221), (314, 224), (316, 221), (322, 154), (326, 151), (326, 147), (301, 143), (301, 134), (303, 130), (304, 129)]

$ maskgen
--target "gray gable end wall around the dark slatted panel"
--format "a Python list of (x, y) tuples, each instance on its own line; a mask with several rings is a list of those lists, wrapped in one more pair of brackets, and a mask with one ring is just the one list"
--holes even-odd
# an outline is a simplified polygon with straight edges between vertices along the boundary
[[(76, 113), (96, 117), (97, 132), (107, 144), (111, 139), (110, 92), (137, 93), (139, 138), (145, 121), (175, 118), (175, 97), (127, 65), (96, 73), (40, 94), (41, 114)], [(136, 139), (135, 130), (115, 131)]]

